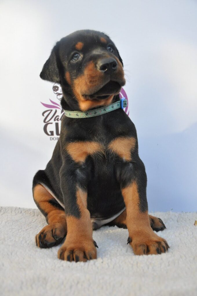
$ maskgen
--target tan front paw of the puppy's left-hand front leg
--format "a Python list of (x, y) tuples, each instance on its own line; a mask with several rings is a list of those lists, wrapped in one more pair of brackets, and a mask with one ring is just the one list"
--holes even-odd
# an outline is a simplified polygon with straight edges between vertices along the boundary
[(86, 262), (87, 260), (96, 259), (96, 247), (97, 244), (92, 239), (83, 239), (81, 242), (66, 239), (58, 250), (58, 258), (70, 262)]

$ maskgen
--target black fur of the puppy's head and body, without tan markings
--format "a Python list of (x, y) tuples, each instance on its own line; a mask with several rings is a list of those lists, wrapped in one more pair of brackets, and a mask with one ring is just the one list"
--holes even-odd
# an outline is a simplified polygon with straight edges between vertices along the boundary
[[(72, 79), (82, 75), (90, 60), (98, 59), (107, 52), (107, 44), (99, 43), (99, 38), (107, 39), (107, 44), (114, 46), (113, 54), (123, 64), (118, 50), (109, 37), (97, 31), (77, 31), (59, 41), (45, 63), (40, 77), (42, 79), (61, 83), (63, 109), (80, 110), (78, 101), (71, 86), (65, 79), (66, 71), (72, 74)], [(84, 43), (83, 59), (80, 63), (70, 61), (77, 41)], [(99, 49), (98, 49), (99, 48)], [(101, 51), (101, 53), (97, 53)], [(96, 52), (96, 53), (95, 53)], [(119, 100), (115, 95), (113, 102)], [(99, 106), (101, 107), (101, 106)], [(132, 161), (124, 161), (107, 149), (110, 141), (117, 137), (134, 137), (135, 150)], [(75, 141), (95, 141), (104, 147), (104, 154), (95, 153), (88, 156), (85, 163), (73, 161), (66, 151), (66, 144)], [(139, 207), (142, 212), (147, 210), (146, 173), (144, 164), (138, 155), (137, 134), (134, 123), (122, 110), (117, 109), (93, 118), (73, 119), (66, 116), (61, 122), (60, 138), (55, 146), (53, 156), (45, 170), (39, 170), (33, 180), (33, 190), (36, 184), (45, 184), (63, 203), (67, 215), (80, 217), (76, 200), (77, 186), (87, 190), (87, 207), (90, 216), (109, 217), (125, 207), (121, 189), (136, 180), (140, 196)]]

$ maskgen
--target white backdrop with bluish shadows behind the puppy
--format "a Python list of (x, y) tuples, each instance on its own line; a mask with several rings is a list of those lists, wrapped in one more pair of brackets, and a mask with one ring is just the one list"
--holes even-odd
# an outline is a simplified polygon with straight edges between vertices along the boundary
[(53, 84), (39, 73), (55, 42), (78, 29), (108, 33), (123, 58), (149, 210), (196, 211), (197, 2), (192, 0), (1, 0), (1, 205), (36, 207), (32, 178), (45, 168), (56, 143), (43, 131), (47, 108), (41, 102), (59, 103)]

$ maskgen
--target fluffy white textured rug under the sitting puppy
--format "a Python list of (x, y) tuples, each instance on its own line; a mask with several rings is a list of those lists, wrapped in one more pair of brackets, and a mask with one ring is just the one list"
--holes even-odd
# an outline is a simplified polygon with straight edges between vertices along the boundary
[(86, 263), (57, 258), (59, 246), (39, 249), (34, 237), (46, 225), (35, 209), (0, 208), (1, 295), (197, 295), (197, 213), (154, 213), (166, 224), (158, 232), (170, 249), (136, 256), (127, 229), (93, 231), (98, 259)]

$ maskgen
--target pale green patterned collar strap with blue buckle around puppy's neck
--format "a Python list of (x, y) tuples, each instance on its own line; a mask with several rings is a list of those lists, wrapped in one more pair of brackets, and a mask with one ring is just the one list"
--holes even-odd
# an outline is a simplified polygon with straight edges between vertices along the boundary
[(101, 108), (86, 111), (86, 112), (64, 110), (64, 113), (67, 117), (70, 117), (70, 118), (88, 118), (88, 117), (99, 116), (119, 108), (123, 109), (125, 107), (127, 107), (127, 100), (125, 98), (122, 98), (120, 101), (117, 101), (106, 107), (101, 107)]

